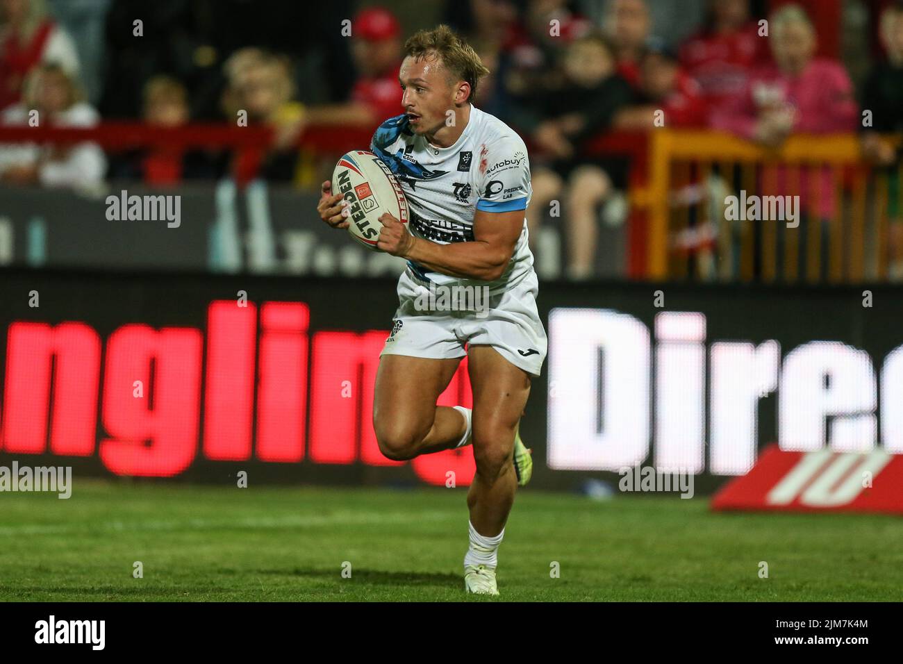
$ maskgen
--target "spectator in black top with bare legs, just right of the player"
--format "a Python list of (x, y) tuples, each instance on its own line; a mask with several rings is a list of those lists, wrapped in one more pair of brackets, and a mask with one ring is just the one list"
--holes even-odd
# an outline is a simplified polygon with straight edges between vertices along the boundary
[(599, 207), (621, 199), (608, 173), (617, 165), (584, 156), (580, 148), (611, 126), (632, 92), (617, 74), (613, 47), (601, 34), (586, 35), (568, 47), (564, 75), (563, 89), (548, 93), (537, 116), (525, 127), (541, 154), (551, 160), (545, 166), (540, 165), (541, 159), (535, 160), (527, 225), (530, 237), (535, 238), (549, 201), (563, 194), (568, 275), (582, 279), (593, 272)]

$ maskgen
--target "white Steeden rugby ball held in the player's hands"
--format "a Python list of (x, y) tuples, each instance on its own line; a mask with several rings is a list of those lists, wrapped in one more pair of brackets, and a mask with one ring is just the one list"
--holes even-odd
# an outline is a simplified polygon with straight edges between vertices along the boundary
[[(349, 202), (349, 233), (367, 248), (377, 249), (379, 218), (386, 212), (407, 223), (407, 201), (389, 167), (372, 152), (343, 154), (332, 172), (332, 193)], [(407, 228), (405, 226), (405, 228)]]

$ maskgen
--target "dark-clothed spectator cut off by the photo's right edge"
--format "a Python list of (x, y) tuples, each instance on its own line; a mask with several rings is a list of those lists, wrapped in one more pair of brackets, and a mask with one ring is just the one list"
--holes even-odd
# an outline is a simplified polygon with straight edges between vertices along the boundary
[(870, 111), (871, 125), (861, 129), (862, 154), (881, 169), (888, 182), (889, 278), (903, 281), (903, 212), (900, 210), (901, 153), (880, 134), (903, 132), (903, 5), (881, 14), (881, 42), (887, 61), (876, 64), (866, 79), (862, 108)]

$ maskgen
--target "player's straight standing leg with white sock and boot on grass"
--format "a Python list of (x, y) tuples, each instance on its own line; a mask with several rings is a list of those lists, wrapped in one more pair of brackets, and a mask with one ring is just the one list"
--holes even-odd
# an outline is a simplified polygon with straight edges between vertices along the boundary
[(491, 346), (481, 345), (470, 346), (468, 369), (477, 473), (467, 494), (470, 548), (464, 558), (465, 584), (470, 592), (498, 594), (496, 551), (517, 491), (515, 437), (530, 394), (530, 375)]

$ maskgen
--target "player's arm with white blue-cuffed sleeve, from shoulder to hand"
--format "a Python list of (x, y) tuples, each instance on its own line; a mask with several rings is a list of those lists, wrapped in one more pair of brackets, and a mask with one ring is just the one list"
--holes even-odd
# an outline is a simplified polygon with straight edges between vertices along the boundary
[(472, 241), (441, 245), (414, 238), (400, 222), (383, 215), (377, 247), (444, 275), (480, 281), (502, 276), (524, 229), (530, 164), (517, 136), (504, 136), (488, 147), (476, 182), (479, 198)]

